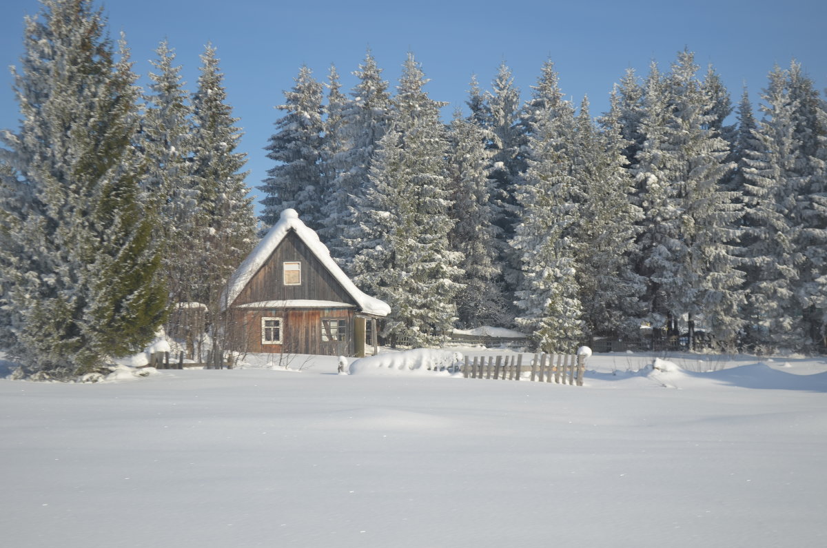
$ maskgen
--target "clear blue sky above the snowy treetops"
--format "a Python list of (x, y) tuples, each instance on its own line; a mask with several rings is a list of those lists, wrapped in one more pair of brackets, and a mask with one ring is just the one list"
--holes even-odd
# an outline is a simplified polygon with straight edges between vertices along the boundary
[[(3, 67), (18, 64), (23, 16), (39, 6), (36, 0), (2, 2)], [(299, 67), (308, 65), (325, 79), (333, 63), (350, 89), (355, 84), (350, 73), (367, 47), (391, 85), (406, 52), (413, 51), (432, 80), (431, 97), (450, 103), (446, 118), (457, 106), (465, 107), (471, 74), (487, 88), (501, 61), (511, 67), (526, 98), (543, 60), (550, 58), (566, 96), (579, 103), (588, 94), (593, 115), (608, 108), (609, 91), (628, 67), (643, 76), (655, 60), (668, 70), (685, 47), (702, 67), (715, 66), (734, 102), (743, 84), (756, 102), (772, 65), (788, 66), (792, 58), (818, 89), (827, 86), (824, 0), (109, 0), (103, 7), (112, 36), (126, 32), (142, 75), (166, 38), (192, 91), (204, 44), (218, 47), (228, 102), (245, 132), (241, 151), (248, 155), (250, 186), (261, 184), (273, 165), (263, 147), (280, 116), (274, 107), (283, 102), (282, 91), (293, 85)], [(0, 128), (17, 127), (11, 86), (9, 72), (0, 70)]]

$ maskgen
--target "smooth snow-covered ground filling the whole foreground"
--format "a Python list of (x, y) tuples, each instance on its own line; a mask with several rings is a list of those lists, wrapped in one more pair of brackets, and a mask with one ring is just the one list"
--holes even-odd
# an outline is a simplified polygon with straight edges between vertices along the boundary
[(825, 360), (661, 358), (2, 380), (2, 546), (827, 546)]

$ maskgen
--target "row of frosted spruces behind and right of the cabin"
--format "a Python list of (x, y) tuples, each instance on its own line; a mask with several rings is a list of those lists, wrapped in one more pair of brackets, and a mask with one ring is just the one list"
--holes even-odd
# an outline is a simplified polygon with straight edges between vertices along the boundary
[(348, 96), (335, 66), (325, 84), (304, 66), (285, 92), (261, 219), (298, 210), (390, 303), (386, 337), (514, 325), (562, 351), (648, 324), (719, 349), (824, 345), (827, 108), (795, 61), (759, 119), (689, 50), (628, 70), (597, 118), (550, 60), (524, 103), (505, 64), (490, 90), (472, 78), (449, 124), (413, 54), (395, 94), (370, 51), (353, 74)]

